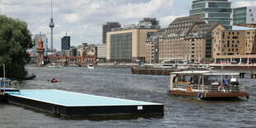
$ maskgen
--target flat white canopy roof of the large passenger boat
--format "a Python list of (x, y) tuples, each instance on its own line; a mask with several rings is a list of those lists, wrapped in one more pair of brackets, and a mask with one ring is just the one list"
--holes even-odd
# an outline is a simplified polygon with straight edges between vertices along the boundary
[(218, 71), (182, 71), (173, 72), (171, 74), (203, 74), (203, 75), (239, 75), (239, 73), (227, 73)]

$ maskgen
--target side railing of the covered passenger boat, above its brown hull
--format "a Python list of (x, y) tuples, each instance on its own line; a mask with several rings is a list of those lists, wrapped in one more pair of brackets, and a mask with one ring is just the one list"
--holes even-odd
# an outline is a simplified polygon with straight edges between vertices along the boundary
[(203, 85), (189, 83), (173, 83), (174, 90), (186, 92), (245, 92), (245, 85)]

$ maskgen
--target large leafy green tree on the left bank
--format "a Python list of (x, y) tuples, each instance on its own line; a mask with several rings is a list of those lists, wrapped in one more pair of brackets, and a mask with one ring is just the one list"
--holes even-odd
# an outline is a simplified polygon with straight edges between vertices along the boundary
[[(26, 78), (25, 65), (29, 61), (26, 50), (34, 45), (25, 21), (0, 15), (0, 65), (6, 65), (7, 78)], [(2, 73), (1, 66), (0, 77)]]

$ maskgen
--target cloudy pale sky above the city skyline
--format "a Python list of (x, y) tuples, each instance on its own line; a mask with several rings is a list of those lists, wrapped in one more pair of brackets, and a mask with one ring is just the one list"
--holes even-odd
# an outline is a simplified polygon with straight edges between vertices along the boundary
[[(256, 7), (255, 0), (229, 0), (233, 7)], [(50, 47), (50, 0), (0, 0), (0, 14), (26, 21), (32, 35), (46, 34)], [(73, 46), (102, 44), (102, 25), (121, 26), (155, 17), (162, 28), (175, 18), (189, 15), (192, 0), (53, 0), (54, 49), (61, 37), (71, 36)]]

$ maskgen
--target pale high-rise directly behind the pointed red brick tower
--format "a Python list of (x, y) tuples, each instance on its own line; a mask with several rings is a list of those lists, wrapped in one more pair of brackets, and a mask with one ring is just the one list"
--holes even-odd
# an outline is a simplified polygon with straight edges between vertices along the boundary
[[(47, 36), (45, 35), (45, 34), (36, 34), (35, 36), (34, 36), (34, 38), (33, 38), (33, 40), (35, 41), (35, 42), (38, 42), (38, 40), (40, 39), (40, 36), (41, 36), (41, 39), (42, 39), (42, 41), (44, 42), (43, 44), (43, 48), (45, 48), (45, 50), (44, 50), (44, 56), (47, 56), (47, 50), (48, 50), (48, 38), (47, 38)], [(37, 48), (37, 46), (38, 45), (35, 45), (33, 48), (32, 48), (32, 50), (31, 50), (31, 56), (36, 56), (37, 55), (37, 53), (36, 53), (36, 48)]]

